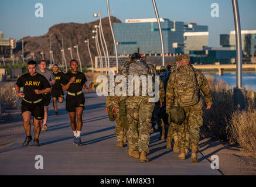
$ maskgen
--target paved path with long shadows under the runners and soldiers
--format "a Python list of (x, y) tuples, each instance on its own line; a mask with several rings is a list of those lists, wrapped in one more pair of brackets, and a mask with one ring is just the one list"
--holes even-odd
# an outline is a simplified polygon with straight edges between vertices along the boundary
[[(128, 155), (128, 148), (115, 147), (115, 124), (104, 113), (105, 98), (95, 92), (86, 93), (81, 139), (73, 145), (73, 132), (65, 103), (59, 104), (59, 115), (49, 108), (47, 131), (40, 134), (40, 147), (22, 147), (25, 135), (0, 153), (0, 175), (220, 175), (210, 162), (198, 153), (198, 164), (190, 155), (178, 160), (178, 153), (166, 150), (166, 141), (151, 134), (148, 163), (140, 163)], [(21, 123), (22, 125), (22, 123)], [(35, 156), (42, 155), (43, 169), (35, 168)]]

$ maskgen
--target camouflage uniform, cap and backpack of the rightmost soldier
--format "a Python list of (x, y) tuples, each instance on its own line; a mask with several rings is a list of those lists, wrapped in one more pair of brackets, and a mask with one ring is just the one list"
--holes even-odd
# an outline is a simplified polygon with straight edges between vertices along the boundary
[[(189, 56), (183, 55), (181, 60), (189, 61), (189, 58)], [(199, 130), (200, 126), (203, 125), (203, 101), (199, 95), (200, 92), (198, 92), (198, 95), (193, 95), (193, 93), (184, 95), (184, 93), (186, 93), (186, 85), (188, 85), (191, 80), (186, 79), (188, 78), (186, 76), (176, 76), (179, 73), (178, 71), (181, 71), (183, 75), (190, 73), (195, 77), (195, 82), (197, 82), (197, 84), (194, 83), (193, 86), (199, 86), (198, 91), (200, 91), (204, 96), (207, 105), (212, 105), (213, 103), (211, 98), (211, 91), (209, 83), (206, 77), (204, 77), (204, 75), (202, 74), (202, 72), (197, 71), (191, 65), (187, 64), (177, 67), (176, 71), (170, 75), (168, 81), (168, 86), (166, 89), (167, 112), (169, 112), (168, 109), (173, 104), (179, 104), (185, 110), (185, 121), (182, 124), (180, 124), (178, 131), (178, 147), (182, 150), (186, 149), (187, 147), (190, 147), (192, 148), (193, 153), (193, 147), (196, 147), (196, 150), (199, 148)], [(184, 86), (178, 86), (178, 81), (182, 82)], [(194, 105), (188, 104), (186, 106), (184, 103), (186, 103), (186, 101), (189, 101), (192, 95), (194, 96), (195, 99), (197, 99), (197, 102)]]

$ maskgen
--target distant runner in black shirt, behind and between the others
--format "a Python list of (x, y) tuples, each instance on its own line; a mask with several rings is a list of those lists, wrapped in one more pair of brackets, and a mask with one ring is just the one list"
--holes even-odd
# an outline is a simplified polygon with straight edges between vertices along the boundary
[(63, 102), (64, 93), (62, 90), (62, 85), (60, 84), (62, 82), (62, 79), (64, 77), (63, 72), (59, 71), (59, 66), (57, 64), (53, 65), (53, 75), (55, 76), (55, 84), (52, 88), (52, 98), (53, 98), (53, 108), (55, 110), (54, 115), (58, 115), (58, 108), (57, 108), (57, 99), (60, 103)]

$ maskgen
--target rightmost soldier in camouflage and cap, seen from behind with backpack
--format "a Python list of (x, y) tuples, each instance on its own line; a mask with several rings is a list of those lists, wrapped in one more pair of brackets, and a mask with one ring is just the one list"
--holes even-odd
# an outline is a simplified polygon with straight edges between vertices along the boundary
[[(187, 91), (192, 92), (187, 94)], [(196, 152), (199, 148), (200, 126), (203, 125), (203, 100), (201, 96), (204, 96), (206, 101), (206, 109), (210, 109), (213, 101), (206, 77), (190, 65), (190, 56), (183, 55), (176, 71), (170, 75), (166, 89), (166, 112), (169, 113), (168, 109), (173, 104), (178, 104), (185, 110), (185, 121), (180, 124), (178, 131), (179, 159), (181, 160), (185, 160), (185, 148), (189, 146), (192, 149), (192, 162), (198, 162)], [(193, 102), (193, 105), (190, 102)]]

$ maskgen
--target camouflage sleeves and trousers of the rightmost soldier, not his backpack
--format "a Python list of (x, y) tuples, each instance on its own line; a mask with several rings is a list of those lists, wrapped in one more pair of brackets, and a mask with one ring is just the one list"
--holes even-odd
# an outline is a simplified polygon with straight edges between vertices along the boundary
[[(178, 67), (179, 68), (179, 67)], [(178, 71), (178, 69), (177, 69)], [(196, 75), (197, 84), (199, 85), (200, 92), (204, 96), (207, 105), (212, 105), (211, 90), (209, 83), (202, 74), (202, 72), (194, 69)], [(166, 89), (166, 108), (169, 109), (170, 105), (179, 104), (177, 91), (175, 91), (175, 78), (176, 71), (170, 75), (168, 86)], [(199, 102), (193, 106), (183, 106), (185, 110), (186, 119), (179, 125), (178, 128), (178, 147), (187, 148), (192, 146), (198, 146), (199, 141), (199, 129), (203, 125), (203, 102), (200, 98)], [(168, 112), (168, 111), (167, 111)]]

